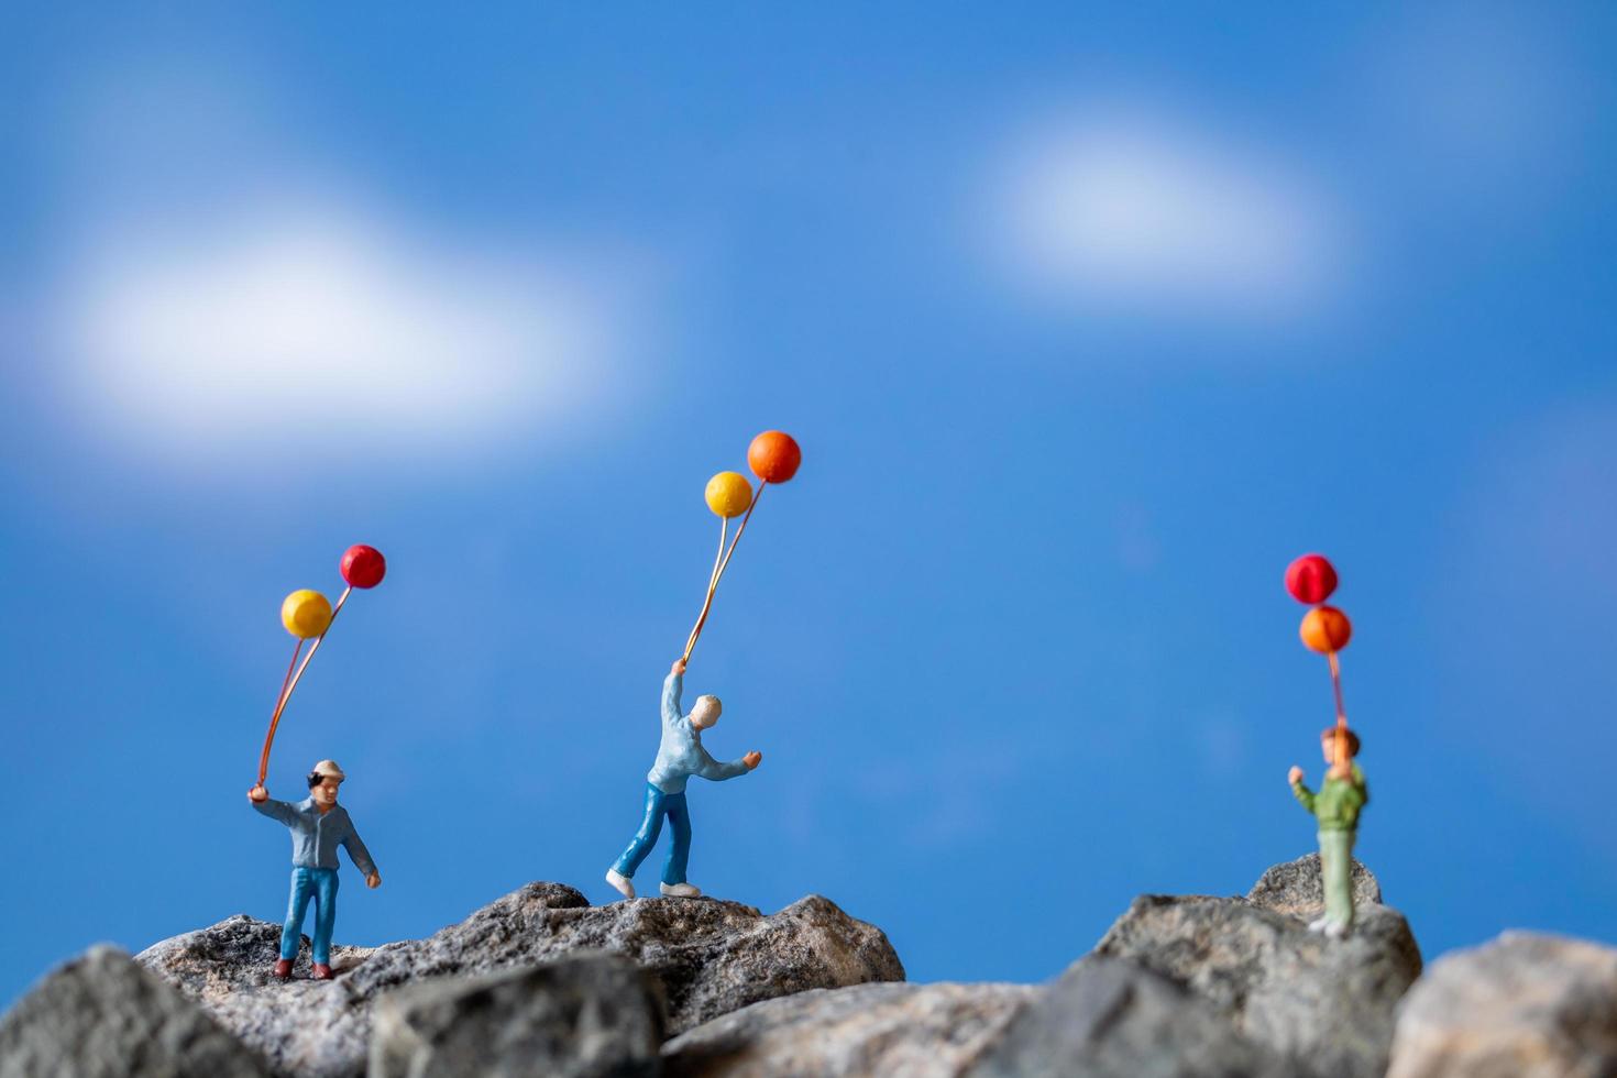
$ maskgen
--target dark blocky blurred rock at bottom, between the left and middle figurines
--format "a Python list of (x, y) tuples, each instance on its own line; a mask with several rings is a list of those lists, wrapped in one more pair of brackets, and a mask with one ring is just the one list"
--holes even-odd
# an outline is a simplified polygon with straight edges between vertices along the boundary
[(432, 978), (377, 1000), (369, 1078), (655, 1078), (657, 979), (581, 954), (475, 978)]

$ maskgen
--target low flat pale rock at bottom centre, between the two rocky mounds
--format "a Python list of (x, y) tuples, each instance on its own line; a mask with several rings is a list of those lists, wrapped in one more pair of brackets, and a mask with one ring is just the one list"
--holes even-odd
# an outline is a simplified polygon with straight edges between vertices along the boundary
[(859, 984), (754, 1004), (663, 1046), (671, 1078), (960, 1075), (1040, 989)]

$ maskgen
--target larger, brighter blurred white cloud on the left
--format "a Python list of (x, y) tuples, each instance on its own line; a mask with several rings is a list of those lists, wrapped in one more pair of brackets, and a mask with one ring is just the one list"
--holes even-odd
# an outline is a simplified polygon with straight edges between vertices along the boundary
[(154, 448), (483, 441), (577, 404), (600, 312), (530, 262), (338, 204), (102, 236), (55, 305), (74, 396)]

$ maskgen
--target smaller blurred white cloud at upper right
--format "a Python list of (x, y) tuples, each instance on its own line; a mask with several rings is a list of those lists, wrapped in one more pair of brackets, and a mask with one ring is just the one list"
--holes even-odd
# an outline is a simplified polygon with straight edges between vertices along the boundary
[(1339, 283), (1337, 210), (1273, 152), (1138, 110), (1027, 139), (999, 186), (1001, 252), (1091, 310), (1286, 318)]

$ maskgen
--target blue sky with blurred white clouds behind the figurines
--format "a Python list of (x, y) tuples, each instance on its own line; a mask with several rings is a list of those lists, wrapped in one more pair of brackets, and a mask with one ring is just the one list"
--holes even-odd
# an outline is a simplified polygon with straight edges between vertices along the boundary
[[(1041, 979), (1307, 852), (1319, 550), (1360, 855), (1428, 955), (1617, 941), (1614, 13), (53, 6), (0, 44), (0, 997), (277, 920), (281, 596), (390, 559), (277, 740), (338, 939), (613, 894), (657, 692), (692, 879)], [(640, 882), (655, 881), (642, 870)]]

